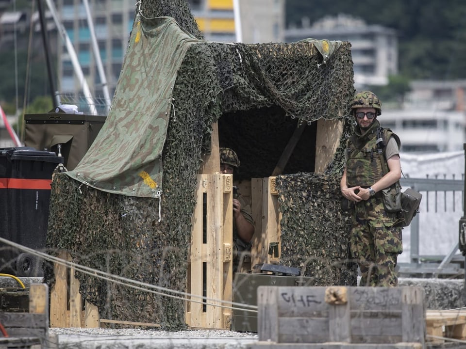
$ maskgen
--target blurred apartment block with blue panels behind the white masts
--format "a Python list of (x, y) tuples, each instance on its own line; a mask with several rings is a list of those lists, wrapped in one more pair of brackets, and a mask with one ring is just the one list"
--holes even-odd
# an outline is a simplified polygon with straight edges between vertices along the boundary
[[(91, 94), (103, 100), (103, 86), (94, 53), (91, 31), (82, 0), (56, 0), (60, 21), (63, 24)], [(88, 0), (95, 29), (100, 59), (105, 71), (110, 96), (115, 92), (126, 46), (134, 21), (134, 1)], [(58, 48), (59, 91), (62, 94), (80, 95), (82, 86), (74, 72), (71, 56), (64, 45)]]

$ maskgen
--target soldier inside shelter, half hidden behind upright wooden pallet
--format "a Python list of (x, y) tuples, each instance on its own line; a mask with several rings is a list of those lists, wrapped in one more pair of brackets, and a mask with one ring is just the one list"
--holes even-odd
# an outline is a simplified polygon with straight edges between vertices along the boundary
[[(239, 166), (238, 156), (233, 149), (220, 148), (220, 173), (233, 174)], [(254, 221), (251, 207), (235, 190), (233, 192), (233, 273), (238, 271), (244, 256), (250, 254), (253, 234)]]

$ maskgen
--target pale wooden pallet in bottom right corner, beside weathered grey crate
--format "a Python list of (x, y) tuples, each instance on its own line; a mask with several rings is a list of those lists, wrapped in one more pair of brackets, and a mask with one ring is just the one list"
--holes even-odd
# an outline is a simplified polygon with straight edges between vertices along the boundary
[(466, 310), (428, 310), (426, 326), (427, 340), (430, 344), (445, 343), (448, 338), (465, 340)]

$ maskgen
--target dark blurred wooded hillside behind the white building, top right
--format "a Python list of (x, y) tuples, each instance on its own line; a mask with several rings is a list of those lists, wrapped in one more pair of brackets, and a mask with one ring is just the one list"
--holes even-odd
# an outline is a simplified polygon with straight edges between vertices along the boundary
[(287, 24), (346, 14), (395, 29), (399, 74), (410, 79), (465, 79), (466, 2), (462, 0), (286, 0)]

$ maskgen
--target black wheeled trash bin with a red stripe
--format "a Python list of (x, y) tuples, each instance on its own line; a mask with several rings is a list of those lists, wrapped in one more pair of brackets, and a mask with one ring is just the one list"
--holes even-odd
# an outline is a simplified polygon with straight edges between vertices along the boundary
[[(0, 148), (0, 237), (41, 250), (49, 221), (50, 184), (63, 162), (32, 147)], [(41, 276), (39, 258), (0, 243), (0, 272)]]

